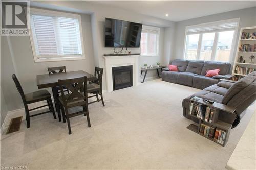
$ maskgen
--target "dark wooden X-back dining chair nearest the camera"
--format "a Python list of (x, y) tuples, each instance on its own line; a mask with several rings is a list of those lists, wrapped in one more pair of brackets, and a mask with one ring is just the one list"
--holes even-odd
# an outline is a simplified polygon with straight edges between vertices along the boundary
[[(75, 79), (66, 79), (66, 80), (58, 80), (61, 96), (59, 96), (59, 102), (61, 105), (61, 112), (63, 116), (63, 122), (68, 123), (69, 134), (71, 134), (70, 127), (70, 118), (74, 116), (78, 116), (83, 114), (87, 116), (88, 127), (91, 127), (89, 111), (88, 111), (88, 96), (87, 96), (87, 77), (75, 78)], [(76, 86), (72, 86), (72, 84), (76, 84)], [(63, 87), (66, 87), (70, 94), (64, 94)], [(82, 106), (83, 110), (70, 113), (68, 109)]]

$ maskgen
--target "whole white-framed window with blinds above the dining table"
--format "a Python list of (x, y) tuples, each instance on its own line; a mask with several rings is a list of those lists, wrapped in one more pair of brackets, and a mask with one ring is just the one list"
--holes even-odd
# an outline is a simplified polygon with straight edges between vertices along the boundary
[(84, 59), (80, 15), (31, 9), (30, 26), (35, 62)]

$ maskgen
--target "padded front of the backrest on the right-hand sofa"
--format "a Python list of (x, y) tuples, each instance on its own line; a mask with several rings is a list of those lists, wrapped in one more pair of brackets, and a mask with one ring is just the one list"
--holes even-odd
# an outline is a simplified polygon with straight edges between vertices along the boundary
[(222, 101), (223, 104), (227, 104), (229, 100), (233, 98), (234, 95), (238, 94), (241, 90), (248, 87), (252, 82), (256, 80), (256, 71), (243, 77), (236, 83), (234, 83), (227, 91)]

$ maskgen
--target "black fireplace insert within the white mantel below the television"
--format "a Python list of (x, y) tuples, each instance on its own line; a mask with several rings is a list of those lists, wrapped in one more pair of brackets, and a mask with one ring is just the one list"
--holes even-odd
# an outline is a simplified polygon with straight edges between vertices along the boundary
[(133, 86), (133, 66), (112, 67), (113, 90)]

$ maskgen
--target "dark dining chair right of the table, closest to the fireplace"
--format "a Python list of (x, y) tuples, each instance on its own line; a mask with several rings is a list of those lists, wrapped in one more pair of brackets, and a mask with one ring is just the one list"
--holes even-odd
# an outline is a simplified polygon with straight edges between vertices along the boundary
[[(96, 79), (94, 81), (89, 82), (87, 85), (87, 91), (89, 93), (93, 93), (95, 95), (88, 96), (88, 98), (96, 97), (97, 101), (90, 102), (88, 104), (92, 104), (94, 102), (102, 102), (102, 105), (105, 106), (103, 95), (102, 95), (102, 76), (103, 76), (103, 68), (95, 67), (94, 76)], [(99, 96), (100, 95), (100, 99)]]

